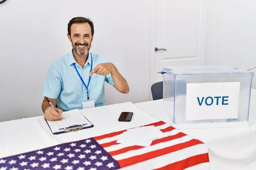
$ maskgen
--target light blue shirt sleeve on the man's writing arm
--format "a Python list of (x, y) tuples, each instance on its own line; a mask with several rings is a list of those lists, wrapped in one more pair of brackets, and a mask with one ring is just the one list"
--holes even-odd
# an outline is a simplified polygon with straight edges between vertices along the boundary
[(61, 92), (61, 79), (55, 63), (50, 66), (44, 82), (42, 95), (57, 99)]

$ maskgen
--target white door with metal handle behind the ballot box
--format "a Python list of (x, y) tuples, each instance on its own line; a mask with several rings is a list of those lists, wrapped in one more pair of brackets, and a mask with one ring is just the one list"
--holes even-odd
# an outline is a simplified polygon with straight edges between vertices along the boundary
[(163, 66), (204, 65), (208, 0), (151, 0), (151, 85)]

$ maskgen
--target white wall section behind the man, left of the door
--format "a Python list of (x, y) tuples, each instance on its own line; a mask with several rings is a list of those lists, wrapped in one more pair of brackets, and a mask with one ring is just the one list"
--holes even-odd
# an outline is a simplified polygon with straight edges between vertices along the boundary
[(42, 115), (49, 65), (72, 48), (67, 23), (90, 17), (92, 51), (111, 60), (129, 94), (106, 84), (107, 104), (149, 99), (150, 7), (148, 0), (7, 0), (0, 4), (0, 122)]

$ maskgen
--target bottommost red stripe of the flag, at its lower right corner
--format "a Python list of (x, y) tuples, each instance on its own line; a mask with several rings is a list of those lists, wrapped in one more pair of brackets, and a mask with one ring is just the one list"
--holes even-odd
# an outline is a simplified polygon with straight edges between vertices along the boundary
[(188, 167), (192, 167), (197, 164), (209, 162), (208, 153), (203, 153), (200, 155), (192, 156), (182, 161), (177, 161), (175, 163), (160, 167), (154, 170), (184, 170)]

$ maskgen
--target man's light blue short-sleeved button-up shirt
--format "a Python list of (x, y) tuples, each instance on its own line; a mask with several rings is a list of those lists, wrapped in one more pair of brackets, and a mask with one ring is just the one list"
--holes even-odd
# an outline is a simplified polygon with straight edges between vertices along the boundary
[(88, 100), (87, 89), (73, 66), (73, 63), (75, 63), (79, 74), (87, 86), (91, 68), (91, 54), (93, 68), (100, 63), (109, 62), (104, 57), (89, 52), (88, 59), (84, 64), (84, 68), (82, 68), (81, 65), (76, 62), (71, 50), (70, 53), (55, 60), (50, 66), (45, 79), (42, 95), (57, 99), (56, 104), (58, 105), (58, 108), (63, 111), (82, 109), (82, 102), (92, 100), (95, 101), (95, 107), (105, 105), (105, 81), (114, 85), (111, 74), (101, 76), (94, 73), (91, 76), (90, 85), (88, 87)]

